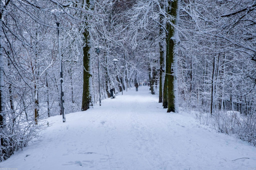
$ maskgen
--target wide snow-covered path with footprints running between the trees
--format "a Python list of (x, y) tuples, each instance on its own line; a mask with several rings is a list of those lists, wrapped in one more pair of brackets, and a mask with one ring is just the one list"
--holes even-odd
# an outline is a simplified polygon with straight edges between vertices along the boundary
[[(190, 114), (166, 113), (148, 87), (102, 106), (48, 119), (35, 142), (1, 162), (18, 170), (248, 170), (256, 148), (210, 131)], [(68, 106), (66, 106), (68, 107)], [(208, 128), (208, 129), (207, 129)], [(250, 159), (238, 159), (250, 158)], [(238, 159), (236, 161), (232, 161)]]

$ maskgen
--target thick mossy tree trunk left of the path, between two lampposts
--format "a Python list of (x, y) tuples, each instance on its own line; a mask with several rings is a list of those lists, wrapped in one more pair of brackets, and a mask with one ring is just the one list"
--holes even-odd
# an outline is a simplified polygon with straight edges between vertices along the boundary
[[(90, 0), (86, 0), (86, 6), (90, 9)], [(85, 46), (83, 47), (83, 97), (82, 97), (82, 111), (90, 108), (91, 93), (90, 93), (90, 35), (88, 23), (86, 22), (86, 29), (83, 32)]]

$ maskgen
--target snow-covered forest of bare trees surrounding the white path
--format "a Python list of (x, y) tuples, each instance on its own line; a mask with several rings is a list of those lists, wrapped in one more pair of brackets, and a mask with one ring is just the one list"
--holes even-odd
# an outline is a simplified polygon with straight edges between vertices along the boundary
[(255, 0), (1, 0), (0, 161), (144, 80), (168, 112), (256, 145), (255, 18)]

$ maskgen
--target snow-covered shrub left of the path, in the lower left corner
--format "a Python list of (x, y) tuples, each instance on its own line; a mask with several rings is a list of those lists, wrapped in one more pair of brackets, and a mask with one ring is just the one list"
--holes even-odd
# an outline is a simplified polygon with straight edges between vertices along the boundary
[(33, 114), (27, 117), (20, 108), (16, 111), (6, 111), (4, 126), (4, 130), (0, 131), (0, 139), (3, 141), (3, 145), (0, 145), (0, 162), (26, 147), (28, 142), (38, 138), (39, 132), (47, 127), (40, 118), (36, 124)]

